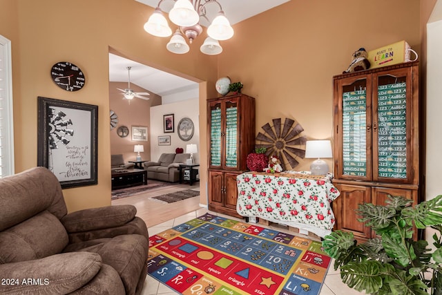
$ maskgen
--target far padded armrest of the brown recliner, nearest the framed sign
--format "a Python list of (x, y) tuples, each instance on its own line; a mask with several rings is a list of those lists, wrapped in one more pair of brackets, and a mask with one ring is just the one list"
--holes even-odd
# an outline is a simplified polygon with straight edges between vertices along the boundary
[(75, 211), (60, 221), (70, 234), (119, 227), (133, 220), (136, 213), (133, 205), (107, 206)]

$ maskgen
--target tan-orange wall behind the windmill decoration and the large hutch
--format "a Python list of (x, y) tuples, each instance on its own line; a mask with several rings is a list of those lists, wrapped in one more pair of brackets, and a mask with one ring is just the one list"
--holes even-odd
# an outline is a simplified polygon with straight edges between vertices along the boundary
[[(291, 0), (235, 26), (222, 44), (218, 75), (241, 81), (242, 92), (256, 98), (257, 133), (289, 117), (308, 139), (331, 139), (332, 77), (347, 69), (352, 53), (402, 39), (419, 52), (419, 36), (416, 0)], [(297, 160), (296, 169), (309, 170), (311, 159)]]

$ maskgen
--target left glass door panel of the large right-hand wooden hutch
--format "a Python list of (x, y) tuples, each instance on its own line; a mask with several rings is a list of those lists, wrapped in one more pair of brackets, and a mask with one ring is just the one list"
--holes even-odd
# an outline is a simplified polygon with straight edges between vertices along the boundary
[(367, 176), (366, 80), (343, 86), (343, 175)]

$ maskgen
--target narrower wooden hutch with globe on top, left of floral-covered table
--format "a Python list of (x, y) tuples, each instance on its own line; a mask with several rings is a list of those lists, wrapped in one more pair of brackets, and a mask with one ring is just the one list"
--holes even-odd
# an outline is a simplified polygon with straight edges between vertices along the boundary
[(241, 217), (236, 211), (236, 176), (247, 171), (255, 149), (255, 99), (241, 93), (207, 101), (209, 210)]

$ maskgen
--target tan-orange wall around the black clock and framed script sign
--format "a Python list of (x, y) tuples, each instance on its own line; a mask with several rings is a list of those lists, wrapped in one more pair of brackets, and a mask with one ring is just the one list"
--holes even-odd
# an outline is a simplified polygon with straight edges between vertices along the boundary
[[(183, 58), (165, 49), (169, 40), (144, 32), (152, 12), (133, 0), (0, 0), (0, 34), (12, 41), (15, 171), (37, 165), (37, 96), (98, 106), (98, 184), (65, 189), (69, 211), (111, 204), (109, 50), (195, 82), (216, 80), (216, 57), (202, 56), (197, 41)], [(55, 86), (50, 68), (57, 61), (84, 70), (81, 91)]]

